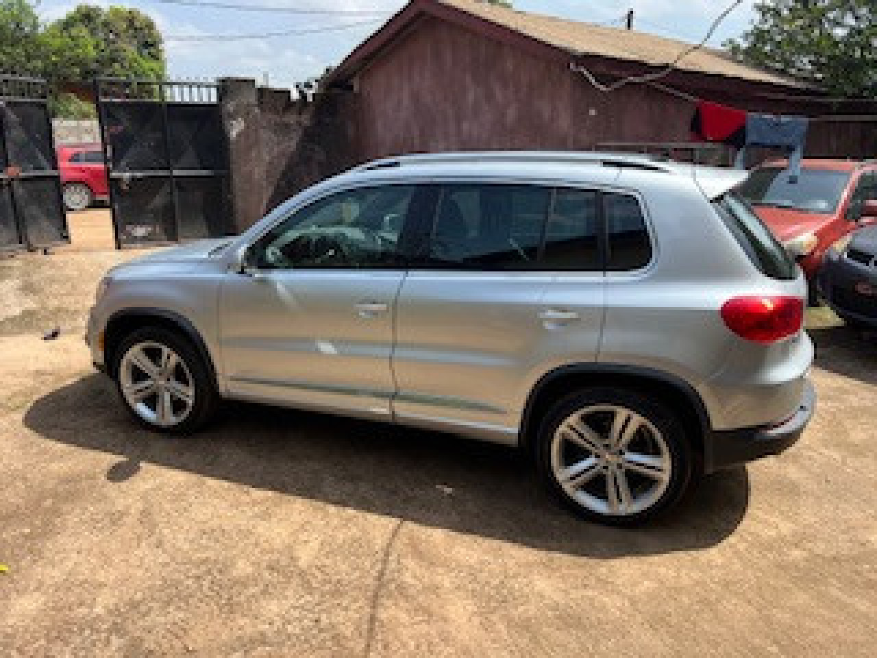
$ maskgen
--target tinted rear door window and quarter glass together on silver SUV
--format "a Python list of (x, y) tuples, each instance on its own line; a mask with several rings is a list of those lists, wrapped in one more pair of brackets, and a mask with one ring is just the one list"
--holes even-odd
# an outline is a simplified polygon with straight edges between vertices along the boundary
[(635, 197), (538, 185), (442, 187), (429, 267), (602, 272), (645, 267), (652, 244)]

